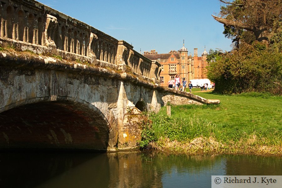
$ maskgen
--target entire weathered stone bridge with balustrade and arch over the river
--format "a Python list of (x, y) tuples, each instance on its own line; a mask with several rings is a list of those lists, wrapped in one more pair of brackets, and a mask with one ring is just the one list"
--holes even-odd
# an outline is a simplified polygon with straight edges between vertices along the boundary
[(1, 0), (0, 148), (137, 147), (141, 112), (219, 103), (159, 86), (160, 64), (32, 0)]

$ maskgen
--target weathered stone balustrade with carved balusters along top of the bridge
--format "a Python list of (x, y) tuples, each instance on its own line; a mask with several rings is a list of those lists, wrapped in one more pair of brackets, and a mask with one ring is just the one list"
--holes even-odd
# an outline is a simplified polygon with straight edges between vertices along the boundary
[(159, 83), (160, 64), (79, 20), (33, 0), (0, 1), (0, 42), (16, 50), (59, 55), (67, 60), (130, 71)]

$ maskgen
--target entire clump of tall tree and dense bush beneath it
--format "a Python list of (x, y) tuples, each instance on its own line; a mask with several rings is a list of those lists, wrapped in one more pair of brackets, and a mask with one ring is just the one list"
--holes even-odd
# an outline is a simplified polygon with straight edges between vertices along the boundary
[(208, 78), (222, 94), (249, 91), (282, 94), (282, 0), (219, 0), (225, 37), (234, 50), (207, 57)]

